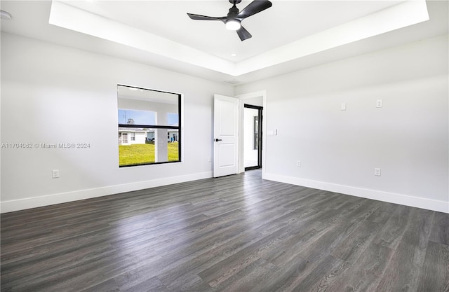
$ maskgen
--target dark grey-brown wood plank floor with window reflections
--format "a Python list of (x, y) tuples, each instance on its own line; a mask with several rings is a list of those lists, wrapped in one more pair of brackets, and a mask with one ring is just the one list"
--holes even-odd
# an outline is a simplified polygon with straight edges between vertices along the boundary
[(1, 215), (1, 291), (449, 291), (449, 214), (260, 170)]

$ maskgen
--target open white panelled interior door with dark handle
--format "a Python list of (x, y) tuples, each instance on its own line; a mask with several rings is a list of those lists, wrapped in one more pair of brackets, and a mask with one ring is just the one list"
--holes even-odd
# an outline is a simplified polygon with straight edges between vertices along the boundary
[(239, 99), (214, 95), (213, 176), (239, 171)]

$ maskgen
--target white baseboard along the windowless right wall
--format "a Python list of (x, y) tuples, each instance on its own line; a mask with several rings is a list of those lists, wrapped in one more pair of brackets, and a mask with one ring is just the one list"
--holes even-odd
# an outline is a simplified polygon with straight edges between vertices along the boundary
[(428, 209), (449, 214), (449, 202), (426, 199), (424, 197), (413, 197), (410, 195), (401, 195), (397, 193), (388, 193), (380, 190), (370, 190), (367, 188), (356, 188), (353, 186), (343, 186), (335, 183), (326, 183), (323, 181), (312, 181), (309, 179), (300, 179), (292, 176), (282, 176), (279, 174), (269, 174), (264, 172), (263, 179), (269, 181), (279, 181), (281, 183), (290, 183), (296, 186), (305, 186), (307, 188), (317, 188), (319, 190), (328, 190), (334, 193), (344, 195), (354, 195), (356, 197), (365, 197), (367, 199), (402, 204), (410, 207)]

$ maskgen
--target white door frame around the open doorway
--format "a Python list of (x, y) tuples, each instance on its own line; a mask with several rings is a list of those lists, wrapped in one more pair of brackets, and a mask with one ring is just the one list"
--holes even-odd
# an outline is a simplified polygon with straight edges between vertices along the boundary
[[(245, 109), (245, 99), (252, 99), (255, 97), (262, 97), (262, 179), (264, 179), (265, 169), (266, 169), (266, 155), (267, 155), (267, 90), (260, 90), (257, 92), (250, 92), (243, 95), (236, 95), (240, 101), (239, 106), (239, 141), (244, 141), (244, 127), (243, 117)], [(239, 173), (245, 172), (244, 163), (244, 147), (243, 143), (239, 143)]]

